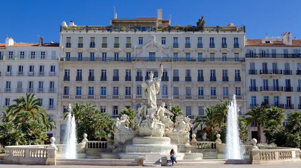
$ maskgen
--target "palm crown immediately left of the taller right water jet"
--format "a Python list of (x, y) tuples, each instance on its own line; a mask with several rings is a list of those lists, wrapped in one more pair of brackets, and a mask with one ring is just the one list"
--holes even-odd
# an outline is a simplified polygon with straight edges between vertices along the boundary
[(228, 105), (230, 104), (230, 100), (219, 100), (222, 104), (216, 104), (215, 116), (217, 117), (219, 125), (222, 125), (223, 123), (227, 123)]

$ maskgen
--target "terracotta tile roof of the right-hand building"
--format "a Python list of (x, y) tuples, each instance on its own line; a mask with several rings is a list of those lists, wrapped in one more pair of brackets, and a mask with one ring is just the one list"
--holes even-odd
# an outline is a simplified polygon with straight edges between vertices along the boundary
[(262, 39), (247, 39), (247, 46), (301, 46), (301, 40), (292, 40), (292, 45), (285, 45), (283, 41), (273, 41), (273, 43), (262, 43)]

